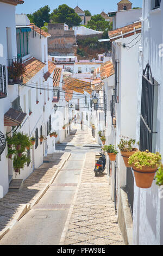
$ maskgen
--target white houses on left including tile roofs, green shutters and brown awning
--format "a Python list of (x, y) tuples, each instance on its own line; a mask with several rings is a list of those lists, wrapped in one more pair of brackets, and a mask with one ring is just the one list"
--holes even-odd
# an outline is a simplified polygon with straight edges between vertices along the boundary
[[(26, 133), (29, 137), (35, 137), (35, 145), (27, 151), (30, 160), (20, 173), (14, 171), (12, 160), (6, 157), (8, 147), (5, 147), (5, 143), (5, 149), (3, 144), (1, 145), (4, 150), (3, 152), (1, 150), (0, 162), (0, 169), (3, 169), (3, 173), (0, 174), (1, 198), (8, 192), (9, 182), (12, 179), (26, 179), (34, 168), (42, 164), (43, 156), (54, 152), (57, 138), (51, 138), (49, 134), (58, 127), (53, 124), (53, 120), (56, 115), (54, 105), (57, 100), (59, 101), (59, 87), (55, 87), (53, 76), (56, 66), (48, 62), (47, 54), (47, 38), (51, 35), (30, 25), (28, 18), (24, 15), (17, 15), (16, 23), (15, 5), (4, 2), (0, 2), (3, 33), (0, 41), (3, 45), (0, 57), (3, 76), (0, 130), (2, 136), (6, 134), (12, 136), (14, 131)], [(7, 16), (8, 19), (5, 19)], [(11, 66), (13, 70), (14, 63), (23, 63), (26, 71), (13, 80), (11, 72), (8, 72), (6, 67)], [(61, 75), (58, 79), (61, 79)], [(67, 116), (66, 112), (66, 119), (68, 119)], [(44, 137), (43, 142), (40, 141), (40, 136)], [(64, 137), (60, 133), (59, 136)]]

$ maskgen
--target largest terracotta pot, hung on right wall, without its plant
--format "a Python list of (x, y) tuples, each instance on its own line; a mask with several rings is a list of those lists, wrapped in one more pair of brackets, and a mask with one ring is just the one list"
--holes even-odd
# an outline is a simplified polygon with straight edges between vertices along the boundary
[(140, 188), (149, 188), (152, 186), (157, 167), (142, 167), (142, 169), (133, 166), (136, 186)]

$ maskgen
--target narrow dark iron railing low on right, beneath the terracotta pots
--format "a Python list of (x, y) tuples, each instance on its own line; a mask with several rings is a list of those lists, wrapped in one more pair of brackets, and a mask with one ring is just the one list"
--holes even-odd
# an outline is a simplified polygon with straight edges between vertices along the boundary
[(131, 168), (127, 168), (126, 176), (126, 190), (128, 196), (128, 204), (131, 211), (131, 216), (133, 216), (133, 206), (134, 206), (134, 176)]

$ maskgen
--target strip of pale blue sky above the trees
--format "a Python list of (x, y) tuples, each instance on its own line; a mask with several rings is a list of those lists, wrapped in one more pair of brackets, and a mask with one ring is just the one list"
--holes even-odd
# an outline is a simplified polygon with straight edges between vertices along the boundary
[[(117, 10), (118, 2), (120, 2), (120, 0), (24, 0), (24, 4), (17, 5), (16, 13), (34, 13), (34, 11), (45, 5), (49, 5), (52, 12), (53, 9), (57, 8), (61, 4), (67, 4), (71, 8), (75, 8), (78, 4), (82, 10), (90, 10), (93, 15), (101, 13), (102, 10), (104, 10), (105, 13)], [(130, 2), (133, 3), (132, 7), (142, 7), (142, 0), (133, 0)]]

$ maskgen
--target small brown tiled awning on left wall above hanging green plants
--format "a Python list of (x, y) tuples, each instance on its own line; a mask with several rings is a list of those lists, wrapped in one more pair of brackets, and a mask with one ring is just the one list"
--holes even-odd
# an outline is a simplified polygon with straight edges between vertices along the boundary
[(20, 125), (26, 115), (26, 113), (10, 108), (8, 112), (4, 114), (4, 126)]

